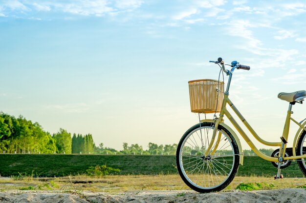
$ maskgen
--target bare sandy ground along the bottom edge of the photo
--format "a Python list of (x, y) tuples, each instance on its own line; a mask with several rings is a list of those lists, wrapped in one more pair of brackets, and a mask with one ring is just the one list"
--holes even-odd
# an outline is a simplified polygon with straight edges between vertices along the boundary
[(306, 203), (306, 189), (239, 191), (200, 194), (191, 190), (133, 191), (81, 195), (54, 191), (0, 192), (0, 203)]

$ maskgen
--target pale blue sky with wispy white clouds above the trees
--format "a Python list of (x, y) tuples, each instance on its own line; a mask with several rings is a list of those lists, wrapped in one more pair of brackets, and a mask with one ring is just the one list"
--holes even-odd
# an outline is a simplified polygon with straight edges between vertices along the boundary
[(116, 149), (177, 143), (198, 121), (187, 82), (217, 79), (222, 57), (251, 66), (230, 98), (273, 141), (277, 94), (306, 89), (305, 19), (305, 1), (0, 0), (0, 110)]

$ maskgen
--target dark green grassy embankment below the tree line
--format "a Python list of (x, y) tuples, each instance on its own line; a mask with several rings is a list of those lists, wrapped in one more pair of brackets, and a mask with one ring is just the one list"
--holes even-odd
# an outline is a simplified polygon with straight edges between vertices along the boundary
[[(177, 174), (175, 156), (0, 154), (0, 176), (75, 176), (90, 166), (104, 164), (119, 168), (120, 175)], [(273, 177), (276, 172), (271, 162), (244, 157), (237, 176)], [(283, 169), (282, 174), (286, 178), (304, 177), (297, 164)]]

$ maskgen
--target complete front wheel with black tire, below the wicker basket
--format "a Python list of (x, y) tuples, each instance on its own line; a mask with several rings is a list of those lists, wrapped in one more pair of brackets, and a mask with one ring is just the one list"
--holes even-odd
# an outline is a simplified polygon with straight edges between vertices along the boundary
[(176, 166), (180, 177), (191, 189), (200, 193), (224, 189), (233, 181), (239, 168), (237, 142), (221, 125), (218, 126), (215, 139), (216, 145), (220, 132), (221, 139), (216, 152), (212, 154), (210, 150), (208, 157), (203, 156), (211, 141), (213, 126), (213, 122), (192, 126), (183, 135), (176, 150)]

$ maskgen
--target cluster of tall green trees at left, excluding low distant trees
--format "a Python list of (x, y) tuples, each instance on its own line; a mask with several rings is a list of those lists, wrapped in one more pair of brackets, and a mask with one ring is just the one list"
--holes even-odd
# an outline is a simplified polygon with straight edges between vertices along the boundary
[(0, 112), (0, 152), (18, 154), (93, 153), (91, 134), (68, 133), (65, 129), (51, 135), (38, 122)]

